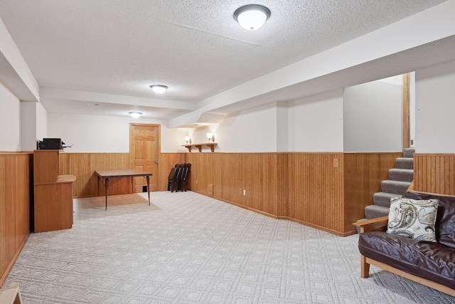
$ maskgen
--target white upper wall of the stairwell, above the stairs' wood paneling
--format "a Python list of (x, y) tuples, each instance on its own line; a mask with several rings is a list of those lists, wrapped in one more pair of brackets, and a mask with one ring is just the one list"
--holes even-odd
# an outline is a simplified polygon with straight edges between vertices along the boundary
[(373, 81), (346, 88), (345, 152), (402, 150), (402, 85)]

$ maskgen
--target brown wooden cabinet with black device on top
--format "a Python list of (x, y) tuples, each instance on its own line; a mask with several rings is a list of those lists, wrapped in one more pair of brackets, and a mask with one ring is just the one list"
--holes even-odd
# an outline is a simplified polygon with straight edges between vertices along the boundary
[(58, 175), (58, 150), (33, 152), (35, 232), (73, 227), (74, 175)]

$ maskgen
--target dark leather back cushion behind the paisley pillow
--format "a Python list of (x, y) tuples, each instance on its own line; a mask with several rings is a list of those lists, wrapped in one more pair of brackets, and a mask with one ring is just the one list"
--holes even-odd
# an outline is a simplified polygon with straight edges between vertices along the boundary
[(407, 199), (439, 199), (436, 223), (434, 224), (436, 241), (455, 248), (455, 196), (407, 192), (403, 197)]

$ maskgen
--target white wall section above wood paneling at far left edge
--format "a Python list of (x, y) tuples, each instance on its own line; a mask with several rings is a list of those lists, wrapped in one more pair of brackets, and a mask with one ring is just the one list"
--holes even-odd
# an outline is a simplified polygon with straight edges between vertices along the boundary
[(21, 102), (0, 83), (0, 151), (21, 150)]

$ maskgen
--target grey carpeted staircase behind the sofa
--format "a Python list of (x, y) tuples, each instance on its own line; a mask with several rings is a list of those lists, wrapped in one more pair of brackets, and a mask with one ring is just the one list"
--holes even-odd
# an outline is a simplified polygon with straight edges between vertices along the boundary
[(365, 207), (365, 219), (388, 215), (390, 199), (406, 193), (414, 179), (414, 152), (414, 148), (403, 149), (403, 157), (397, 158), (397, 167), (390, 169), (389, 179), (381, 182), (382, 192), (373, 194), (374, 204)]

